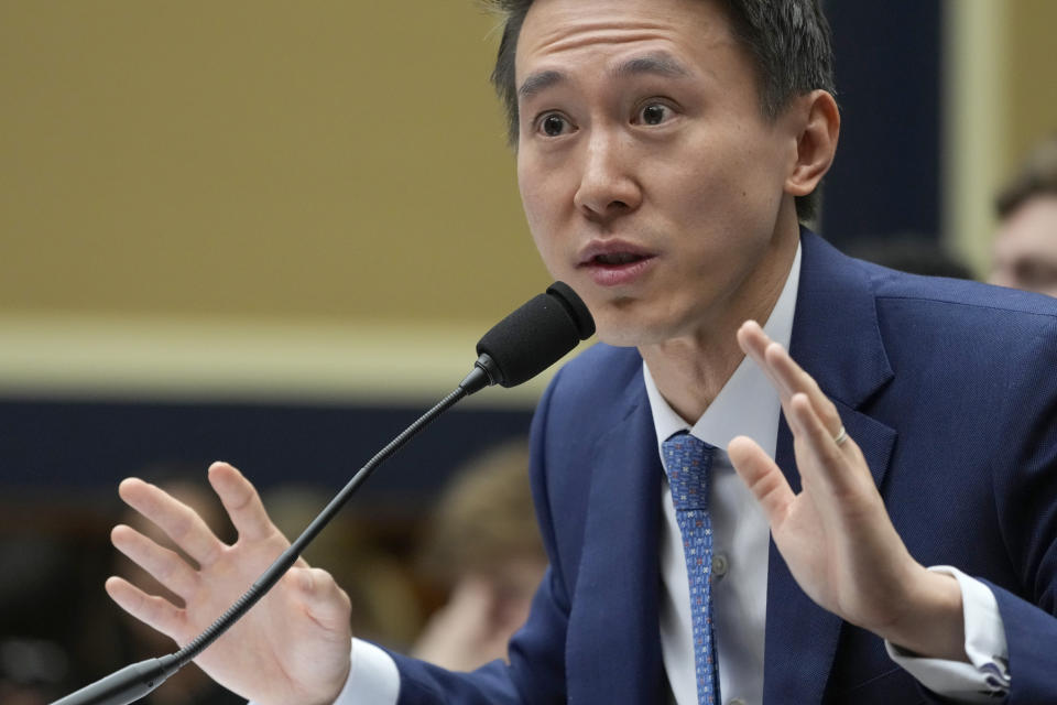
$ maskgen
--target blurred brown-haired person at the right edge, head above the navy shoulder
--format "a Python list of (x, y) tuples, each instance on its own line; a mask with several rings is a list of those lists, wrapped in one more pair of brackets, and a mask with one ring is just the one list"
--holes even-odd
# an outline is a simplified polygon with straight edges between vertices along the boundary
[(1057, 133), (1028, 154), (996, 200), (988, 281), (1057, 296)]

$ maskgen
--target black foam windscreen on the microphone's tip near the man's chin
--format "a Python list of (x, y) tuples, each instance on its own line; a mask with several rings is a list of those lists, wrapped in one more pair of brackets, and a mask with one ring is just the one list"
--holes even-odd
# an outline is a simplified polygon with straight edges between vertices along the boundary
[(494, 381), (515, 387), (547, 369), (595, 334), (595, 319), (567, 284), (555, 282), (544, 294), (492, 326), (477, 344), (499, 370)]

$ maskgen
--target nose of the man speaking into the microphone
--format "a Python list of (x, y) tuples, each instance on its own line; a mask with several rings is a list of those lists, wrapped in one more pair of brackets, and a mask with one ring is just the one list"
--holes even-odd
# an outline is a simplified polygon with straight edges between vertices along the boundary
[(608, 221), (635, 210), (642, 189), (633, 172), (629, 145), (609, 131), (597, 131), (587, 140), (584, 171), (574, 203), (591, 220)]

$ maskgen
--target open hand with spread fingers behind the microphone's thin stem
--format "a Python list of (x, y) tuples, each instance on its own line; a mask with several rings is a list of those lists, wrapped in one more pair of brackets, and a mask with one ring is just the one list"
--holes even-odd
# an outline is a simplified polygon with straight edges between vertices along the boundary
[[(120, 577), (107, 581), (127, 612), (181, 647), (222, 615), (290, 545), (253, 486), (232, 466), (214, 463), (209, 484), (239, 538), (221, 542), (201, 518), (160, 488), (137, 478), (121, 498), (155, 523), (197, 566), (126, 525), (113, 545), (177, 595), (184, 607), (151, 596)], [(298, 562), (197, 663), (217, 683), (260, 705), (334, 702), (349, 674), (351, 607), (345, 590), (318, 568)]]

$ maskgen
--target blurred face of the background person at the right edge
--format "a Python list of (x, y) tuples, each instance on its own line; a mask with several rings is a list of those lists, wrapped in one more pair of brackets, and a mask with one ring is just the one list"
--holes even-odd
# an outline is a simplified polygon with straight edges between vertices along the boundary
[(988, 281), (1057, 296), (1057, 195), (1033, 196), (1002, 221)]

